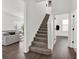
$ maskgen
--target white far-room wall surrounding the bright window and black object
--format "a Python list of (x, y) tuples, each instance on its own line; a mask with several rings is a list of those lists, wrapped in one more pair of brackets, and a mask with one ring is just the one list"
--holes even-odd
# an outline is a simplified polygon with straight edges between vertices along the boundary
[(56, 30), (56, 36), (68, 36), (68, 31), (63, 31), (63, 24), (62, 24), (62, 21), (64, 19), (68, 19), (68, 14), (55, 15), (55, 17), (56, 17), (55, 27), (56, 25), (60, 26), (59, 30)]

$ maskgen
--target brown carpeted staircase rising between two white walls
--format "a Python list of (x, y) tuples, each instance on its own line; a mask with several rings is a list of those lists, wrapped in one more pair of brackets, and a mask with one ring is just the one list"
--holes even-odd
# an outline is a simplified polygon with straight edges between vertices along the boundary
[(49, 14), (46, 14), (44, 20), (37, 31), (36, 36), (34, 37), (34, 41), (30, 46), (30, 51), (50, 55), (51, 50), (48, 49), (48, 41), (47, 41), (47, 21), (49, 18)]

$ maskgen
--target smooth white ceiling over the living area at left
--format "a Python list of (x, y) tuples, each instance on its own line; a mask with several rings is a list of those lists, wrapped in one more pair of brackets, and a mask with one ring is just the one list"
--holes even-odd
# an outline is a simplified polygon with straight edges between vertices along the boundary
[(23, 0), (3, 0), (2, 10), (17, 16), (24, 16)]

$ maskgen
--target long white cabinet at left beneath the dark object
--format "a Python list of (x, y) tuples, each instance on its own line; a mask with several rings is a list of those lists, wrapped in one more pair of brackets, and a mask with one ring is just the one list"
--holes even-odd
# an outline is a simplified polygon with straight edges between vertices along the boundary
[(18, 42), (20, 39), (19, 37), (14, 34), (14, 35), (10, 35), (10, 34), (6, 34), (2, 36), (2, 45), (6, 46), (6, 45), (10, 45), (12, 43)]

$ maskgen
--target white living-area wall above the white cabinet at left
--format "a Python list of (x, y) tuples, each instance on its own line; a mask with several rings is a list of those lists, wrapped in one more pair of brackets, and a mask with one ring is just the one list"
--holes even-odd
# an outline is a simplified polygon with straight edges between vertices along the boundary
[(17, 26), (22, 26), (24, 19), (8, 12), (2, 12), (2, 30), (16, 30)]

